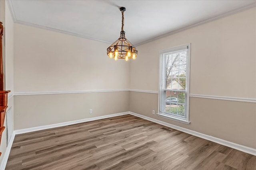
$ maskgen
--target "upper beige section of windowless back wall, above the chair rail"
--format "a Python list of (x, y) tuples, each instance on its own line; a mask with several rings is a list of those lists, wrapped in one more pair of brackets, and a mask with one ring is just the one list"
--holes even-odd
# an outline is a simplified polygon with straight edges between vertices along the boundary
[(14, 24), (15, 92), (128, 89), (129, 63), (106, 55), (110, 45)]

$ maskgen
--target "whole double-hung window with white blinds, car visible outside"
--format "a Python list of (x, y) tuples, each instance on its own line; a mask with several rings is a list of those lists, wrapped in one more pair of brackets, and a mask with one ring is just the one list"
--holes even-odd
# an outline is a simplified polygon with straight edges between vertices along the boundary
[(190, 45), (160, 51), (159, 116), (189, 124)]

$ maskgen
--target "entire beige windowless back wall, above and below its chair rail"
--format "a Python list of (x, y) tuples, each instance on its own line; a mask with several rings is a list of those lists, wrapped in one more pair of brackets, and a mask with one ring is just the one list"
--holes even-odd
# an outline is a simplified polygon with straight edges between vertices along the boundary
[[(68, 92), (129, 87), (129, 63), (106, 55), (108, 43), (14, 24), (14, 90)], [(128, 111), (129, 92), (15, 96), (14, 129)], [(89, 115), (89, 109), (93, 113)]]

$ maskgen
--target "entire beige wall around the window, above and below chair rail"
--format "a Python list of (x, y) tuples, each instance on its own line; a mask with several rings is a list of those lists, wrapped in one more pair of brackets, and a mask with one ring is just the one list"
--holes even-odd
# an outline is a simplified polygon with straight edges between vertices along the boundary
[[(158, 91), (159, 51), (191, 43), (190, 94), (256, 98), (256, 8), (138, 46), (130, 89)], [(190, 97), (190, 125), (152, 115), (158, 94), (130, 92), (129, 110), (256, 148), (256, 104)]]

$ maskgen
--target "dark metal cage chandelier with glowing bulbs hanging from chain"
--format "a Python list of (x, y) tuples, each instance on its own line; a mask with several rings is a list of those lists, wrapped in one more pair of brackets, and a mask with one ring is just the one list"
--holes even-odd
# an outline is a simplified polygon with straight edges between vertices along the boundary
[(120, 32), (120, 37), (108, 47), (107, 55), (110, 59), (114, 58), (116, 61), (117, 59), (125, 59), (128, 61), (129, 59), (136, 59), (138, 51), (137, 49), (125, 38), (124, 32), (124, 11), (125, 8), (121, 7), (120, 11), (122, 12), (122, 29)]

